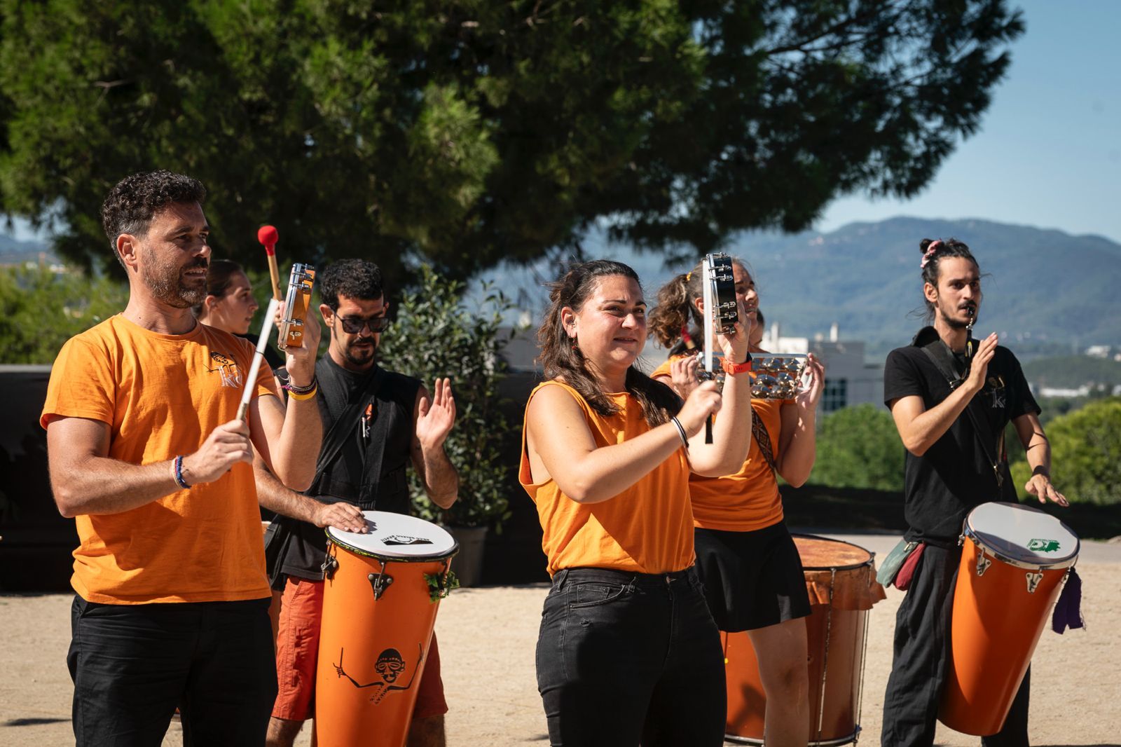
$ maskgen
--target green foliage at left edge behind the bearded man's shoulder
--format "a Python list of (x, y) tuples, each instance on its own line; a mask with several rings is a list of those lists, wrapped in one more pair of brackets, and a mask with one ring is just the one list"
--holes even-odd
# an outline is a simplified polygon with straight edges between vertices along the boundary
[(53, 363), (64, 342), (127, 302), (123, 283), (74, 268), (0, 267), (0, 362)]

